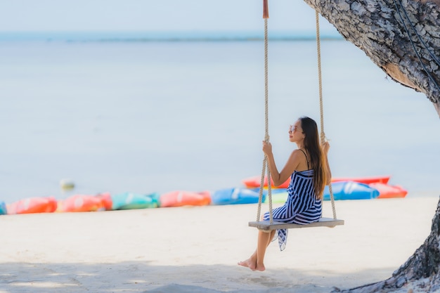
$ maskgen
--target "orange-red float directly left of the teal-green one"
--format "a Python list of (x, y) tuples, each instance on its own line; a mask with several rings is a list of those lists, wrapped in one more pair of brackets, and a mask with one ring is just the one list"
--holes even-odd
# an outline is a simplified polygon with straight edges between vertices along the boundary
[(72, 195), (58, 205), (58, 211), (98, 211), (104, 207), (102, 197), (94, 195)]

